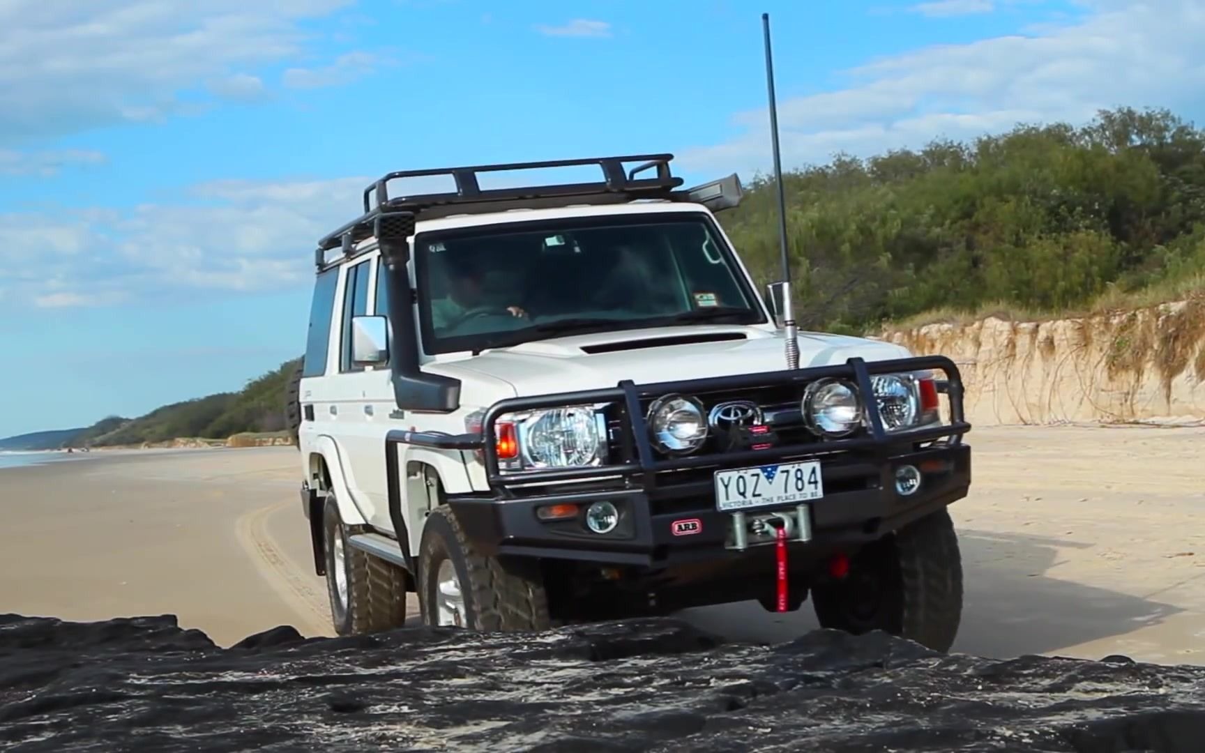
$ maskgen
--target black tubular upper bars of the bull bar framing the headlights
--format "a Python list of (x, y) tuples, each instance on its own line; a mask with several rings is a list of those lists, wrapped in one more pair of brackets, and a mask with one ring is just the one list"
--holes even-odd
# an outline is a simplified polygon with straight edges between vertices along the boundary
[[(945, 373), (945, 380), (935, 381), (937, 392), (948, 396), (950, 423), (939, 423), (935, 425), (927, 425), (904, 431), (893, 431), (888, 434), (887, 430), (883, 429), (882, 418), (878, 414), (870, 377), (880, 373), (913, 371), (940, 371)], [(798, 387), (799, 394), (803, 395), (803, 388), (809, 382), (823, 378), (845, 378), (851, 380), (854, 383), (859, 399), (865, 406), (866, 418), (870, 424), (869, 436), (864, 435), (851, 439), (818, 440), (803, 443), (778, 445), (769, 449), (712, 452), (707, 454), (666, 459), (658, 459), (654, 455), (647, 420), (641, 408), (641, 400), (658, 398), (670, 393), (699, 395), (706, 393), (766, 387)], [(500, 472), (495, 424), (501, 416), (521, 411), (600, 402), (617, 404), (619, 407), (619, 441), (622, 455), (622, 460), (619, 463), (560, 470), (513, 471), (507, 473)], [(950, 437), (948, 443), (951, 446), (957, 446), (962, 443), (962, 436), (969, 431), (971, 425), (966, 423), (963, 412), (963, 382), (958, 366), (956, 366), (954, 363), (945, 355), (921, 355), (876, 361), (866, 361), (862, 358), (851, 358), (844, 364), (724, 377), (658, 382), (652, 384), (635, 384), (631, 381), (623, 381), (616, 387), (606, 389), (509, 398), (495, 402), (486, 411), (484, 418), (482, 419), (481, 434), (446, 439), (452, 440), (451, 442), (447, 442), (448, 448), (452, 448), (451, 445), (455, 445), (457, 449), (481, 449), (483, 452), (486, 473), (490, 488), (499, 494), (506, 495), (509, 493), (509, 488), (517, 484), (566, 482), (616, 476), (622, 477), (623, 481), (628, 483), (639, 481), (646, 489), (651, 489), (657, 486), (657, 473), (659, 471), (674, 471), (712, 465), (728, 466), (750, 461), (762, 464), (794, 455), (807, 455), (813, 453), (828, 454), (833, 452), (858, 449), (877, 453), (882, 458), (886, 458), (892, 451), (892, 447), (899, 447), (900, 443), (905, 442), (923, 442), (941, 437)]]

